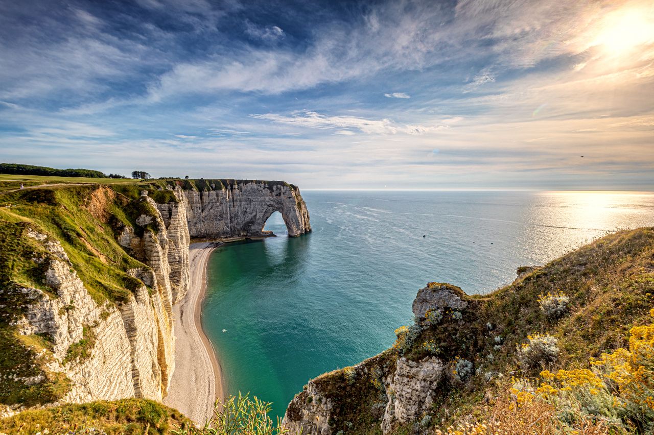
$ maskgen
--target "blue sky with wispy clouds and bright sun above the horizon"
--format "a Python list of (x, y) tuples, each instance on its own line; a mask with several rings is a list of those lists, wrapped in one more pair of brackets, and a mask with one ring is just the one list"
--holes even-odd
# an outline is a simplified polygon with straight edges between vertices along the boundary
[(654, 0), (0, 0), (0, 161), (654, 190)]

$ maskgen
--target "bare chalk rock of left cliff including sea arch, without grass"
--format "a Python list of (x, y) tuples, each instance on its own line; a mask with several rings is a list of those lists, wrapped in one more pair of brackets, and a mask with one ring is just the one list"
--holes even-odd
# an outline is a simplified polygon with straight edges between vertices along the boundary
[[(175, 370), (171, 312), (188, 291), (190, 238), (261, 235), (275, 211), (281, 212), (290, 236), (311, 231), (297, 187), (283, 182), (222, 181), (221, 188), (204, 191), (184, 190), (181, 183), (170, 185), (175, 201), (163, 203), (155, 202), (148, 191), (141, 192), (139, 210), (148, 211), (135, 217), (135, 225), (116, 228), (116, 240), (145, 266), (127, 271), (139, 285), (114, 302), (97, 302), (60, 242), (47, 231), (28, 227), (24, 236), (42, 253), (32, 261), (41, 265), (43, 281), (51, 291), (12, 285), (1, 289), (0, 302), (4, 292), (20, 292), (24, 304), (20, 316), (10, 323), (12, 333), (44, 337), (52, 350), (42, 374), (20, 377), (14, 369), (0, 372), (0, 378), (37, 385), (52, 374), (63, 374), (69, 388), (58, 398), (60, 403), (129, 397), (162, 400)], [(107, 191), (99, 186), (96, 192)], [(14, 409), (20, 406), (20, 402), (12, 404)]]

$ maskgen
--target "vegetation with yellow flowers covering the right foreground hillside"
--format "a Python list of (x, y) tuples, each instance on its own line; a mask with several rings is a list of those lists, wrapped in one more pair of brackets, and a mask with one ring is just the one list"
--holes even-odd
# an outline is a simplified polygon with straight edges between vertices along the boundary
[[(436, 357), (446, 370), (433, 402), (414, 421), (394, 421), (388, 433), (652, 430), (654, 229), (610, 234), (522, 272), (483, 296), (430, 283), (426, 289), (447, 291), (465, 307), (426, 312), (396, 331), (392, 349), (313, 379), (309, 389), (329, 402), (334, 433), (381, 433), (400, 357), (416, 364)], [(313, 397), (296, 396), (287, 419), (300, 421)], [(527, 426), (534, 415), (540, 429)]]

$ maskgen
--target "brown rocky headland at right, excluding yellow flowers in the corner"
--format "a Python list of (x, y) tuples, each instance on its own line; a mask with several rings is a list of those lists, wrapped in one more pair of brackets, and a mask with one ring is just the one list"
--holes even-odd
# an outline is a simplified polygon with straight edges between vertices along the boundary
[[(514, 376), (539, 385), (533, 379), (544, 369), (591, 373), (589, 359), (628, 347), (632, 327), (651, 323), (653, 254), (654, 229), (645, 228), (611, 234), (542, 267), (521, 267), (515, 282), (485, 297), (429, 283), (413, 302), (415, 323), (396, 330), (391, 349), (311, 379), (288, 405), (284, 425), (291, 434), (463, 433), (458, 425), (502, 419), (506, 415), (494, 413), (493, 406), (501, 407), (503, 400), (513, 402), (497, 409), (521, 409), (509, 393), (522, 382), (511, 380)], [(555, 292), (565, 300), (556, 316), (544, 302)], [(538, 347), (545, 346), (538, 336), (549, 336), (546, 348)], [(547, 350), (547, 359), (532, 361), (525, 346)], [(617, 399), (607, 403), (612, 400)], [(564, 408), (551, 417), (557, 415), (571, 413)], [(570, 424), (571, 433), (581, 433), (584, 422), (609, 418), (602, 415), (579, 426), (556, 420), (553, 427)], [(448, 430), (450, 425), (455, 429)], [(527, 423), (524, 430), (502, 425), (492, 430), (498, 427), (502, 433), (539, 432)]]

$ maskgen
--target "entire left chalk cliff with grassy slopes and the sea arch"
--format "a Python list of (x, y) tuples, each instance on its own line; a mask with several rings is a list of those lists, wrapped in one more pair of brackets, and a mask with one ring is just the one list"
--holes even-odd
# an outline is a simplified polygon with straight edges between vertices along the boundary
[(20, 204), (0, 214), (0, 404), (162, 400), (190, 238), (261, 235), (275, 211), (290, 236), (311, 231), (295, 186), (202, 186), (165, 180), (0, 196)]

